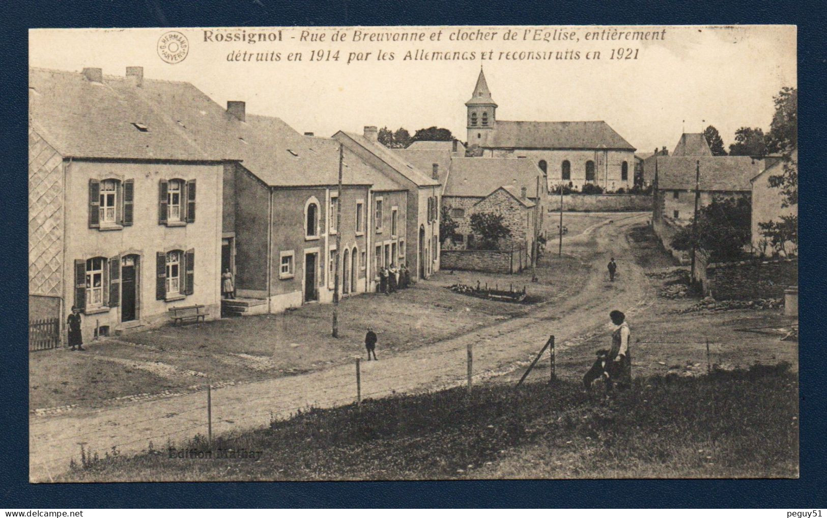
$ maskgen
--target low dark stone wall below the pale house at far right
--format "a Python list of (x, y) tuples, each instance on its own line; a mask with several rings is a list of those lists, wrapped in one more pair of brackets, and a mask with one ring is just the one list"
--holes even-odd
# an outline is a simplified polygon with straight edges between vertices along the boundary
[(705, 274), (705, 294), (717, 300), (779, 298), (798, 285), (798, 259), (711, 263)]

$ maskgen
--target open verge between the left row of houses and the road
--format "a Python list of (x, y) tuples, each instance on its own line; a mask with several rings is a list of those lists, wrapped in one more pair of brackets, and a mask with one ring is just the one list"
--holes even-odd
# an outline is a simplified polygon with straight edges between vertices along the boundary
[[(533, 303), (576, 292), (588, 270), (571, 257), (547, 257), (538, 283), (529, 271), (508, 276), (438, 272), (393, 295), (365, 294), (339, 305), (339, 338), (331, 333), (332, 305), (304, 305), (283, 314), (222, 319), (184, 327), (165, 326), (119, 339), (86, 344), (86, 353), (65, 349), (32, 353), (31, 409), (60, 405), (93, 407), (111, 398), (161, 391), (188, 391), (206, 379), (254, 381), (291, 376), (349, 362), (364, 352), (366, 326), (379, 335), (379, 357), (480, 329), (533, 308)], [(446, 289), (457, 282), (492, 287), (527, 286), (527, 304), (483, 300)], [(573, 287), (572, 287), (573, 286)]]

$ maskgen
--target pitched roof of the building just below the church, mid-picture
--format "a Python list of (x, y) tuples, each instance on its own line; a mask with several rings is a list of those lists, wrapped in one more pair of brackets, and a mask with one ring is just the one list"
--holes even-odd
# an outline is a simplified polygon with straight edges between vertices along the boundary
[[(503, 185), (528, 189), (528, 197), (536, 198), (537, 177), (543, 182), (543, 171), (528, 158), (461, 158), (453, 157), (451, 174), (442, 191), (443, 196), (485, 198)], [(542, 185), (541, 185), (542, 192)]]

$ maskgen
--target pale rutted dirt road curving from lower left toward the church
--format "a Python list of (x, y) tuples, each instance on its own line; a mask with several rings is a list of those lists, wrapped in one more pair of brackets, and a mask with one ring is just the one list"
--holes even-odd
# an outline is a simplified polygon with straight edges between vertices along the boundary
[[(457, 338), (433, 343), (379, 362), (361, 362), (361, 396), (380, 397), (464, 382), (466, 347), (473, 346), (475, 380), (513, 371), (530, 361), (549, 335), (557, 338), (557, 355), (585, 337), (609, 329), (610, 309), (633, 315), (653, 297), (643, 270), (633, 261), (626, 239), (629, 228), (648, 213), (624, 213), (578, 236), (566, 237), (564, 252), (588, 257), (591, 271), (577, 295), (553, 300), (530, 314), (504, 320)], [(550, 243), (550, 253), (556, 251)], [(605, 265), (613, 256), (619, 279), (609, 283)], [(418, 325), (427, 325), (427, 321)], [(558, 375), (575, 373), (558, 372)], [(116, 447), (136, 453), (150, 441), (164, 448), (207, 434), (206, 391), (97, 410), (85, 415), (30, 417), (30, 480), (49, 482), (79, 459), (80, 445), (101, 455)], [(354, 365), (334, 367), (295, 377), (279, 377), (212, 391), (213, 434), (261, 426), (270, 417), (289, 417), (308, 405), (334, 406), (356, 399)]]

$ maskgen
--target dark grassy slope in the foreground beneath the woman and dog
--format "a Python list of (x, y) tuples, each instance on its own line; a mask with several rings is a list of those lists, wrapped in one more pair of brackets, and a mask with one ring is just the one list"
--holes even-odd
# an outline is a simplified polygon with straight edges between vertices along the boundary
[(797, 396), (783, 364), (638, 378), (609, 400), (573, 381), (489, 384), (87, 457), (55, 482), (797, 477)]

